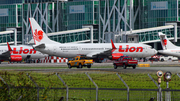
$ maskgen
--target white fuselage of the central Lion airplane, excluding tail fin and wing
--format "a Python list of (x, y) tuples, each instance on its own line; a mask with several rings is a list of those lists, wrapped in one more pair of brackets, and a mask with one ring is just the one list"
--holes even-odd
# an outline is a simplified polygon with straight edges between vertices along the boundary
[[(115, 43), (117, 49), (113, 53), (122, 53), (131, 57), (148, 57), (157, 53), (155, 49), (152, 49), (149, 45), (144, 44), (132, 44), (132, 43)], [(38, 51), (49, 55), (55, 55), (59, 57), (72, 58), (78, 55), (86, 55), (89, 53), (101, 53), (106, 50), (112, 49), (110, 43), (100, 44), (46, 44), (45, 49), (35, 48)]]

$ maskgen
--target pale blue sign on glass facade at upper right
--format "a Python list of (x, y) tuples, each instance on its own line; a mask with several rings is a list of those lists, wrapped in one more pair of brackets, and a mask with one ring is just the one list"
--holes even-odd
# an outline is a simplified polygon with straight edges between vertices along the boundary
[(151, 2), (151, 10), (166, 10), (168, 9), (168, 2)]

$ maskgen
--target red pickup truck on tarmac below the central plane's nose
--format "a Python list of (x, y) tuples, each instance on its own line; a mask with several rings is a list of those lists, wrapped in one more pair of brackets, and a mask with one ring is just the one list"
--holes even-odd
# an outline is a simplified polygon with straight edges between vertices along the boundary
[(138, 60), (133, 60), (130, 56), (121, 56), (119, 59), (115, 60), (113, 62), (114, 69), (117, 69), (117, 67), (123, 67), (126, 69), (126, 67), (133, 67), (133, 69), (136, 68), (136, 65), (138, 64)]

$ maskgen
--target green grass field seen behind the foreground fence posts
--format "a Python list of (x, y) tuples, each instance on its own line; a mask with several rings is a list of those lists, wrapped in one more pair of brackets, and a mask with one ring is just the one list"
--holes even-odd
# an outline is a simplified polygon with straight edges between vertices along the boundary
[[(41, 68), (41, 67), (38, 67)], [(43, 89), (39, 90), (40, 101), (57, 101), (61, 97), (66, 98), (66, 87), (55, 73), (35, 73), (35, 72), (16, 72), (16, 71), (1, 71), (0, 76), (8, 84), (1, 80), (0, 82), (0, 99), (1, 100), (17, 100), (22, 96), (20, 101), (37, 100), (37, 89), (33, 81), (27, 76), (30, 75), (33, 81)], [(118, 78), (116, 73), (111, 72), (88, 72), (89, 76), (98, 85), (98, 100), (100, 101), (126, 101), (127, 88)], [(96, 100), (96, 88), (84, 72), (71, 72), (58, 74), (69, 88), (69, 101), (94, 101)], [(122, 74), (119, 73), (122, 79), (130, 88), (130, 101), (144, 101), (157, 95), (157, 91), (139, 91), (131, 89), (157, 89), (157, 86), (148, 77), (147, 74)], [(156, 74), (150, 74), (154, 80), (157, 80)], [(19, 87), (19, 88), (13, 88)], [(166, 88), (166, 82), (162, 81), (162, 89)], [(170, 89), (180, 90), (180, 78), (172, 75), (172, 80), (169, 83)], [(56, 89), (54, 89), (56, 88)], [(89, 89), (78, 89), (89, 88)], [(124, 90), (101, 90), (101, 88), (115, 88)], [(164, 92), (163, 92), (164, 93)], [(173, 99), (180, 99), (180, 92), (172, 92)], [(165, 95), (165, 94), (164, 94)], [(65, 101), (65, 100), (64, 100)]]

